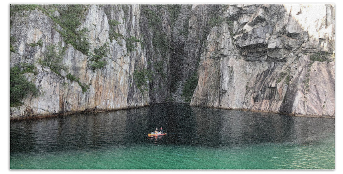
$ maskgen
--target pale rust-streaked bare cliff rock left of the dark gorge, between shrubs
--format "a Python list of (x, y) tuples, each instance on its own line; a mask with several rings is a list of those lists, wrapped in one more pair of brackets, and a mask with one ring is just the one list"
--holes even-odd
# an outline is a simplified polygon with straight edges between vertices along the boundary
[[(23, 105), (11, 107), (11, 118), (149, 104), (149, 93), (141, 92), (133, 78), (135, 70), (147, 66), (144, 51), (140, 42), (128, 43), (127, 39), (140, 38), (140, 5), (85, 5), (85, 18), (78, 30), (88, 30), (89, 55), (65, 42), (65, 36), (57, 32), (63, 28), (54, 21), (61, 16), (59, 11), (54, 10), (52, 17), (45, 11), (51, 8), (43, 6), (11, 16), (11, 37), (16, 38), (13, 44), (16, 50), (11, 52), (10, 66), (20, 63), (36, 66), (36, 75), (25, 74), (39, 90), (38, 96), (26, 97)], [(116, 26), (110, 28), (113, 24), (109, 21), (117, 22)], [(110, 39), (109, 34), (114, 33), (119, 37)], [(39, 42), (41, 46), (30, 44)], [(103, 58), (105, 66), (93, 71), (91, 55), (105, 43), (109, 45), (108, 54)], [(56, 73), (42, 60), (47, 57), (48, 46), (59, 44), (65, 48), (62, 58), (65, 68)], [(128, 49), (127, 44), (133, 44), (134, 49)]]

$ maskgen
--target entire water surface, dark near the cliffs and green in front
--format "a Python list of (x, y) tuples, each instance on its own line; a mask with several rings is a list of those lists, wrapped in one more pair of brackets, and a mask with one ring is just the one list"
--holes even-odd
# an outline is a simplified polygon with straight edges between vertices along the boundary
[(335, 167), (334, 119), (182, 104), (15, 122), (10, 143), (11, 169)]

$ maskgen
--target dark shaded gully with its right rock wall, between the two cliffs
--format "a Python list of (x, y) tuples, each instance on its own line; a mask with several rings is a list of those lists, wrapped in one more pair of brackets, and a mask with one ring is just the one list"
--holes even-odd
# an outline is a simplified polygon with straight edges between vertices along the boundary
[[(189, 102), (183, 89), (185, 82), (198, 69), (198, 60), (204, 44), (204, 30), (208, 19), (208, 4), (182, 4), (180, 15), (173, 26), (171, 59), (171, 99)], [(193, 91), (192, 91), (193, 92)]]

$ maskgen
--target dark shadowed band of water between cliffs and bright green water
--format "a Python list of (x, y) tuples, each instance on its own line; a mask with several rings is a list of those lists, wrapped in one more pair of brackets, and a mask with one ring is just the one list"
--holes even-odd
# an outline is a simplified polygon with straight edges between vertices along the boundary
[[(160, 127), (167, 135), (147, 137)], [(333, 132), (334, 119), (159, 104), (11, 123), (10, 150), (15, 154), (135, 144), (205, 147), (239, 147), (264, 142), (316, 144)]]

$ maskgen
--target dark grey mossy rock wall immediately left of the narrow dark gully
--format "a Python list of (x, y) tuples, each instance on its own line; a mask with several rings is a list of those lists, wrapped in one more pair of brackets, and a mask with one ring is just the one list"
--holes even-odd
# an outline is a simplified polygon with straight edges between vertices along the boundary
[(169, 97), (169, 57), (171, 29), (169, 12), (162, 5), (141, 5), (141, 38), (144, 44), (149, 80), (150, 104)]

